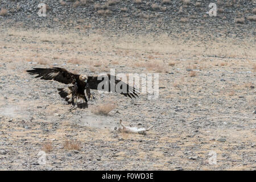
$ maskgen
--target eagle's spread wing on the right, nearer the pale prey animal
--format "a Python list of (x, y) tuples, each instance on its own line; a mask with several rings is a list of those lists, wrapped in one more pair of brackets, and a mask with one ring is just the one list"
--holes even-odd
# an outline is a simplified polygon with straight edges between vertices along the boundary
[[(112, 82), (112, 79), (113, 79), (113, 82)], [(99, 85), (100, 83), (104, 83), (104, 81), (106, 81), (105, 84), (106, 84), (106, 86), (108, 86), (108, 88), (104, 88), (104, 85), (103, 86)], [(111, 91), (117, 92), (115, 86), (117, 86), (117, 84), (118, 84), (120, 86), (121, 90), (122, 90), (123, 86), (124, 86), (125, 90), (122, 90), (122, 92), (117, 92), (117, 93), (120, 93), (123, 96), (130, 97), (130, 98), (139, 97), (138, 89), (134, 88), (133, 86), (129, 86), (125, 82), (119, 80), (117, 77), (112, 76), (110, 74), (105, 75), (105, 76), (88, 76), (87, 82), (89, 84), (90, 89), (102, 90), (102, 91), (108, 91), (108, 92), (111, 92)], [(114, 88), (114, 90), (111, 90), (111, 88)]]

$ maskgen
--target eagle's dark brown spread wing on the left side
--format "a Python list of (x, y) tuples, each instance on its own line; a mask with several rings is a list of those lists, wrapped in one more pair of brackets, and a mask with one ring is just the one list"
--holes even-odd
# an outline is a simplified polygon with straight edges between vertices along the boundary
[(33, 68), (27, 70), (30, 75), (38, 75), (35, 78), (41, 77), (43, 80), (55, 80), (63, 84), (72, 84), (79, 78), (79, 75), (75, 75), (71, 72), (68, 72), (64, 68)]

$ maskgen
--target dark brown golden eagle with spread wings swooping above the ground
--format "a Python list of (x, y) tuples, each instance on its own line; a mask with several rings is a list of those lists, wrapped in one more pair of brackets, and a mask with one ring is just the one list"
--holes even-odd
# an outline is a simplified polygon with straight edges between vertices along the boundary
[[(68, 86), (67, 88), (57, 89), (59, 90), (60, 97), (65, 98), (68, 104), (72, 104), (73, 107), (77, 105), (80, 109), (88, 107), (88, 100), (92, 97), (90, 94), (90, 89), (101, 90), (101, 91), (112, 91), (115, 93), (120, 93), (123, 96), (136, 98), (138, 97), (138, 89), (129, 86), (125, 82), (119, 80), (117, 77), (110, 74), (100, 75), (100, 76), (86, 76), (77, 75), (67, 71), (64, 68), (33, 68), (27, 70), (30, 75), (38, 75), (35, 78), (40, 77), (43, 80), (55, 80), (63, 84), (73, 84), (73, 86)], [(117, 84), (120, 88), (116, 88)], [(121, 90), (121, 91), (120, 91)], [(88, 100), (85, 96), (88, 97)], [(73, 107), (71, 107), (72, 110)]]

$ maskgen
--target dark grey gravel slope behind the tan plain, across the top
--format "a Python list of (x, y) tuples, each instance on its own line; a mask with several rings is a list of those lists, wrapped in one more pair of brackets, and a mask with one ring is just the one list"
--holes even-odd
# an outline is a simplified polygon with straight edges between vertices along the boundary
[[(183, 1), (87, 1), (85, 5), (74, 7), (75, 1), (43, 1), (48, 6), (47, 17), (38, 16), (38, 1), (0, 1), (0, 7), (9, 12), (0, 15), (1, 26), (54, 28), (57, 30), (78, 29), (82, 31), (112, 30), (133, 34), (160, 34), (162, 32), (180, 34), (199, 32), (208, 36), (245, 38), (255, 36), (255, 1), (195, 1), (188, 5)], [(113, 1), (112, 1), (113, 2)], [(209, 17), (209, 3), (217, 5), (217, 17)], [(199, 3), (199, 4), (197, 4)], [(220, 10), (219, 10), (220, 9)], [(102, 10), (102, 11), (101, 11)], [(109, 10), (105, 12), (106, 10)], [(253, 11), (254, 10), (254, 11)], [(103, 12), (104, 11), (104, 12)], [(109, 13), (110, 12), (110, 13)], [(254, 17), (254, 18), (250, 18)], [(237, 18), (244, 22), (236, 23)], [(181, 22), (184, 19), (184, 22)], [(209, 34), (210, 32), (210, 34)]]

